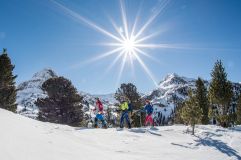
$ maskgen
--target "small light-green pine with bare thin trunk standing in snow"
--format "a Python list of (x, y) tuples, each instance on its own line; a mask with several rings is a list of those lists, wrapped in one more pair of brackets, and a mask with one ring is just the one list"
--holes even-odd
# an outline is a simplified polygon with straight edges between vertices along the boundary
[(202, 109), (199, 107), (197, 99), (191, 90), (189, 91), (188, 95), (189, 99), (184, 103), (184, 107), (181, 111), (181, 117), (185, 124), (191, 125), (192, 135), (194, 135), (195, 125), (202, 120)]

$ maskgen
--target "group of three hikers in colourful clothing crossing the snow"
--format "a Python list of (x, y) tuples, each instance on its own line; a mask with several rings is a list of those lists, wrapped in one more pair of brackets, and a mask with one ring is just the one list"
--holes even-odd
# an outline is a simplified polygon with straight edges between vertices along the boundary
[[(95, 108), (93, 109), (95, 113), (95, 120), (94, 120), (94, 127), (98, 127), (98, 121), (102, 122), (102, 127), (103, 128), (108, 128), (107, 122), (105, 121), (104, 118), (104, 107), (102, 102), (100, 101), (99, 98), (96, 98), (96, 104)], [(129, 113), (133, 112), (133, 107), (132, 104), (126, 99), (123, 98), (121, 101), (121, 104), (119, 106), (119, 109), (117, 111), (121, 112), (121, 117), (120, 117), (120, 128), (124, 128), (124, 122), (127, 123), (128, 128), (131, 129), (131, 121), (129, 118)], [(138, 110), (137, 112), (145, 112), (146, 113), (146, 118), (145, 118), (145, 126), (154, 126), (154, 121), (152, 118), (153, 114), (153, 106), (151, 105), (151, 102), (149, 100), (146, 100), (145, 107)]]

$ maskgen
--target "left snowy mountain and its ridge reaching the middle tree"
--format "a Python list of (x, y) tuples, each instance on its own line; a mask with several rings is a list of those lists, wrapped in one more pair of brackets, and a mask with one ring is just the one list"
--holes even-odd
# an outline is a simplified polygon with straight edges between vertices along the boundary
[[(33, 77), (18, 85), (17, 89), (17, 112), (21, 115), (36, 118), (38, 115), (38, 107), (35, 102), (38, 98), (47, 97), (47, 94), (42, 90), (42, 84), (53, 77), (58, 75), (52, 69), (43, 69), (33, 75)], [(84, 100), (90, 104), (90, 107), (95, 104), (95, 98), (99, 97), (104, 106), (107, 108), (109, 105), (115, 104), (117, 101), (114, 98), (114, 94), (106, 95), (91, 95), (89, 93), (80, 92), (84, 97)]]

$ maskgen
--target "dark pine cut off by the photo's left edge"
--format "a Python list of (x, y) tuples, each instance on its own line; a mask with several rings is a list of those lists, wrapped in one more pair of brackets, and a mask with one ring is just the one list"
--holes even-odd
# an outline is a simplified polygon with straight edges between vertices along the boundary
[(0, 108), (16, 112), (16, 95), (15, 79), (13, 75), (14, 65), (8, 57), (7, 50), (3, 49), (0, 55)]

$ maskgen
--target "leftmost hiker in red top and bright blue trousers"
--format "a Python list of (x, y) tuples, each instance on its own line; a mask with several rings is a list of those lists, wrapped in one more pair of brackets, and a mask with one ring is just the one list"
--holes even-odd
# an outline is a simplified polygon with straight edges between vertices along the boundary
[(95, 105), (95, 109), (94, 109), (95, 114), (96, 114), (96, 116), (95, 116), (95, 128), (98, 127), (98, 125), (97, 125), (98, 120), (100, 120), (102, 122), (102, 125), (103, 125), (104, 128), (107, 128), (107, 125), (106, 125), (106, 122), (105, 122), (105, 119), (104, 119), (104, 116), (103, 116), (103, 110), (104, 110), (104, 108), (103, 108), (102, 102), (100, 101), (99, 98), (96, 98), (96, 105)]

